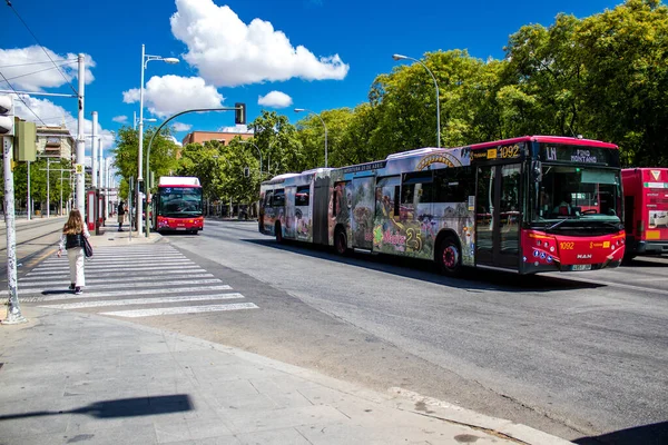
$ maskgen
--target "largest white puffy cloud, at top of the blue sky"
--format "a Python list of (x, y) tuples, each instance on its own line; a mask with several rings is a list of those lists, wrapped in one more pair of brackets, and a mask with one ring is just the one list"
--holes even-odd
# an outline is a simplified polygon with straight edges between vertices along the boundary
[[(227, 6), (212, 0), (176, 0), (171, 33), (188, 47), (185, 60), (216, 86), (234, 87), (294, 77), (341, 80), (350, 66), (338, 55), (315, 57), (303, 46), (292, 46), (271, 22), (239, 20)], [(333, 39), (332, 41), (335, 41)]]

